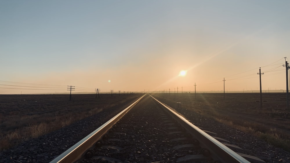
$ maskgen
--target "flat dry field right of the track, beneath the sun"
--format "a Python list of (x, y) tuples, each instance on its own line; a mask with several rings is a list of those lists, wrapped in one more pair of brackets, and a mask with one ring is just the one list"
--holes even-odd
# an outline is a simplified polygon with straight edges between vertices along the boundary
[[(290, 151), (290, 109), (286, 93), (174, 93), (152, 94), (161, 102), (180, 110), (193, 110), (203, 116), (257, 135)], [(177, 105), (177, 102), (181, 102)], [(179, 109), (178, 109), (179, 107)], [(290, 108), (290, 107), (289, 107)], [(184, 115), (186, 117), (186, 115)]]

